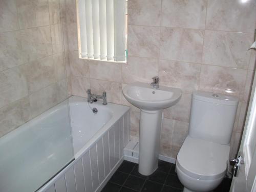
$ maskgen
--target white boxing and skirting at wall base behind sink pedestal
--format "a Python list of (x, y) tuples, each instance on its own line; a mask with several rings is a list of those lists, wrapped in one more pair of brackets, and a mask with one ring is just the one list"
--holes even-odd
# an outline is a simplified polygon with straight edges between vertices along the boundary
[[(130, 141), (123, 150), (124, 160), (131, 161), (134, 163), (139, 163), (139, 142), (138, 141)], [(158, 159), (162, 161), (166, 161), (169, 163), (175, 163), (176, 159), (172, 157), (167, 157), (164, 155), (159, 155)]]

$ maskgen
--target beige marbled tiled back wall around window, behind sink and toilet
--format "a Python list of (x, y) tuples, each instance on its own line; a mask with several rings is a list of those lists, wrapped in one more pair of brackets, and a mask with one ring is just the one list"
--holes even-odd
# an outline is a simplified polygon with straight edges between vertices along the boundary
[[(253, 0), (129, 0), (127, 64), (78, 59), (75, 0), (70, 2), (66, 35), (69, 92), (107, 92), (108, 101), (130, 105), (122, 88), (134, 81), (182, 89), (180, 102), (164, 110), (161, 154), (176, 157), (188, 132), (191, 93), (212, 91), (240, 100), (231, 140), (237, 152), (254, 71)], [(139, 136), (139, 110), (132, 106), (131, 135)]]

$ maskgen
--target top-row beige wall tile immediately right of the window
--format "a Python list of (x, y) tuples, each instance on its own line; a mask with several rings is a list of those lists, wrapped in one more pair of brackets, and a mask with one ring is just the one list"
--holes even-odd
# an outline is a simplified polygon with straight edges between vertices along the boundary
[(161, 0), (130, 0), (128, 2), (130, 25), (160, 26)]

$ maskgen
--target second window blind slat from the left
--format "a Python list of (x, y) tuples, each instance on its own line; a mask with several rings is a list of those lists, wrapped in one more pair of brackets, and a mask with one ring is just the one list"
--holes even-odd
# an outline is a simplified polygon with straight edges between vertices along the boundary
[[(93, 58), (93, 20), (92, 20), (92, 0), (85, 1), (86, 11), (86, 35), (87, 35), (87, 55)], [(93, 0), (94, 1), (94, 0)]]

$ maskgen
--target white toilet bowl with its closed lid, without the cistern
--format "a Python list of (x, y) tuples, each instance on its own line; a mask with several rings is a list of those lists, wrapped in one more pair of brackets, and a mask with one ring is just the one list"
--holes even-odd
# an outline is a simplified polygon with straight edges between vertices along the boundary
[[(193, 150), (192, 150), (193, 149)], [(176, 161), (183, 191), (210, 191), (226, 174), (230, 147), (187, 136)]]

